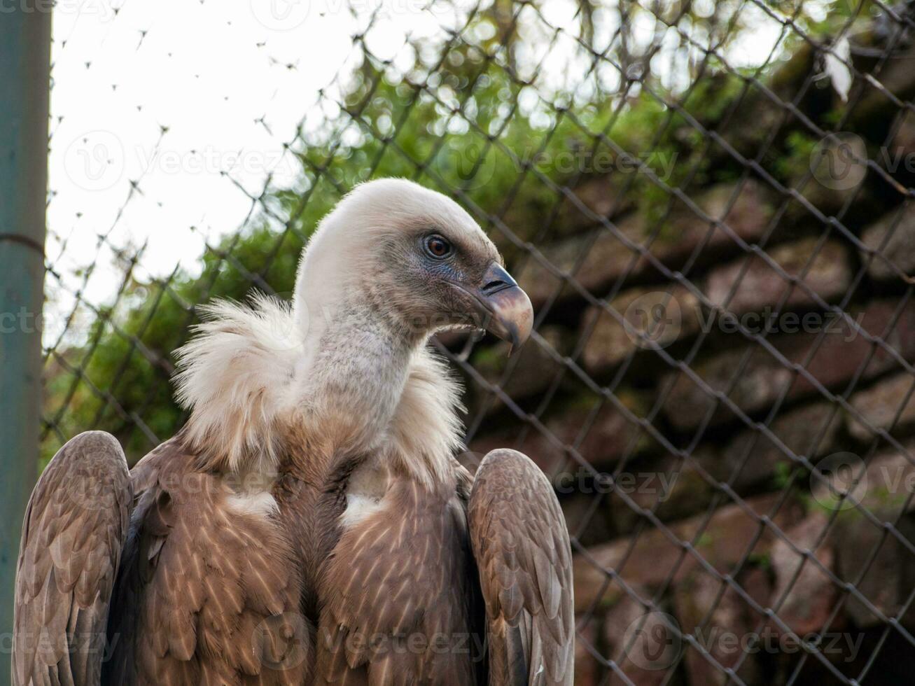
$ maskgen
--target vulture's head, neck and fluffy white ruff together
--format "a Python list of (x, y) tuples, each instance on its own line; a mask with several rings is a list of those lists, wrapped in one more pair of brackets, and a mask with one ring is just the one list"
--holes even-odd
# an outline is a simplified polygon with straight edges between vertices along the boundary
[(233, 471), (274, 469), (290, 427), (307, 434), (300, 445), (365, 452), (400, 440), (411, 444), (400, 452), (442, 466), (460, 444), (459, 393), (428, 337), (478, 327), (517, 347), (533, 325), (477, 222), (393, 178), (353, 189), (320, 222), (291, 305), (221, 301), (204, 317), (178, 351), (184, 437), (207, 466)]

